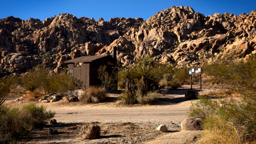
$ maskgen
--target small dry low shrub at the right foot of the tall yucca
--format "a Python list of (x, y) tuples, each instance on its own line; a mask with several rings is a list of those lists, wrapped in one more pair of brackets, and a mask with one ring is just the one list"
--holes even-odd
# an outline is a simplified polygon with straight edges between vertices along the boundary
[(157, 93), (153, 93), (153, 92), (149, 92), (146, 94), (146, 96), (138, 96), (138, 102), (140, 104), (148, 104), (148, 105), (153, 105), (157, 102), (157, 96), (159, 94)]

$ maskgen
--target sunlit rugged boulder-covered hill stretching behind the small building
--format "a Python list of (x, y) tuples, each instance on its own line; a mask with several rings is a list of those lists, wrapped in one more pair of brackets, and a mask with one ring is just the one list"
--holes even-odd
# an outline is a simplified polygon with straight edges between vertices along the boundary
[(44, 64), (59, 72), (63, 61), (108, 55), (117, 47), (124, 65), (151, 56), (159, 63), (200, 65), (256, 55), (256, 11), (204, 16), (190, 7), (171, 7), (142, 18), (76, 18), (65, 13), (45, 21), (0, 19), (0, 77)]

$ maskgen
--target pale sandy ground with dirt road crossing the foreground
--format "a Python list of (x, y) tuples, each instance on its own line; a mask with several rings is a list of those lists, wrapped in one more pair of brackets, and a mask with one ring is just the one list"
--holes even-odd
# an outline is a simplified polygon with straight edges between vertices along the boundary
[[(195, 88), (198, 88), (195, 87)], [(49, 125), (58, 129), (59, 134), (48, 135), (48, 128), (37, 129), (33, 139), (26, 143), (61, 143), (61, 144), (189, 144), (195, 143), (200, 131), (181, 131), (180, 123), (188, 117), (191, 101), (185, 101), (184, 93), (190, 90), (185, 85), (177, 90), (163, 90), (155, 105), (127, 106), (120, 104), (119, 94), (110, 94), (108, 102), (82, 105), (78, 102), (67, 103), (62, 99), (54, 103), (39, 103), (56, 113), (54, 119), (58, 125)], [(199, 94), (205, 95), (215, 91), (204, 87)], [(23, 106), (7, 100), (7, 105)], [(101, 139), (85, 140), (79, 137), (82, 125), (97, 122), (101, 127)], [(156, 130), (158, 125), (165, 124), (169, 132)], [(24, 142), (24, 141), (22, 141)]]

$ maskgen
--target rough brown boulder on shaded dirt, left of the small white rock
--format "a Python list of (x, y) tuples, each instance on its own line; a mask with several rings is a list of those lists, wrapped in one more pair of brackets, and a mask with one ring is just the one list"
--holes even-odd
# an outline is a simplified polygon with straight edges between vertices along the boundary
[(83, 126), (79, 135), (85, 139), (98, 139), (100, 137), (100, 127), (98, 125)]

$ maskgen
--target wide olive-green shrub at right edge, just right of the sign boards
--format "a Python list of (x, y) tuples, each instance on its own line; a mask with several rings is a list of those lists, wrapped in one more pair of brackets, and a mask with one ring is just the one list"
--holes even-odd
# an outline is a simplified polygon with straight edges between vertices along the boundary
[(237, 94), (253, 95), (256, 92), (256, 58), (245, 61), (226, 61), (205, 65), (203, 70), (211, 76), (212, 84)]

